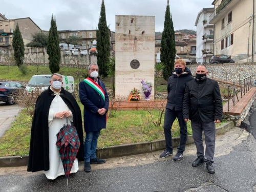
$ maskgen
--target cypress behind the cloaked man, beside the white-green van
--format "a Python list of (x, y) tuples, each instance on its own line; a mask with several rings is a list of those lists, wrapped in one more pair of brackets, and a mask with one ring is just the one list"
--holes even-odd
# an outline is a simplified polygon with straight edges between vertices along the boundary
[(49, 30), (47, 54), (51, 73), (57, 73), (59, 71), (60, 48), (56, 19), (53, 19), (53, 15), (51, 20), (51, 28)]

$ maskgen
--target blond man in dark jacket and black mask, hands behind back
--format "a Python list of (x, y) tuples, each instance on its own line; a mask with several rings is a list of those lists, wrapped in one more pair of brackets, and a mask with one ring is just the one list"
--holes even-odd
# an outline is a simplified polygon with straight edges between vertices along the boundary
[(167, 83), (167, 104), (164, 115), (164, 136), (165, 136), (165, 151), (161, 153), (160, 157), (165, 158), (173, 155), (172, 146), (172, 125), (176, 118), (180, 124), (180, 145), (178, 153), (175, 155), (174, 160), (178, 161), (182, 158), (185, 151), (187, 141), (187, 124), (183, 119), (182, 102), (185, 91), (185, 84), (187, 81), (193, 80), (191, 72), (186, 68), (186, 62), (183, 59), (177, 59), (174, 63), (175, 70), (173, 75), (169, 77)]

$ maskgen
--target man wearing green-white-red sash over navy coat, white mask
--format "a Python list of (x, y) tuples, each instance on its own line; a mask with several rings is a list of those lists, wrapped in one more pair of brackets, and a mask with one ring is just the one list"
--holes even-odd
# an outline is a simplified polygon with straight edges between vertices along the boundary
[(106, 113), (109, 109), (109, 96), (105, 84), (99, 80), (97, 64), (88, 68), (89, 77), (79, 83), (79, 97), (84, 106), (83, 124), (86, 132), (84, 140), (84, 172), (91, 172), (90, 163), (105, 163), (96, 157), (96, 148), (101, 129), (106, 128)]

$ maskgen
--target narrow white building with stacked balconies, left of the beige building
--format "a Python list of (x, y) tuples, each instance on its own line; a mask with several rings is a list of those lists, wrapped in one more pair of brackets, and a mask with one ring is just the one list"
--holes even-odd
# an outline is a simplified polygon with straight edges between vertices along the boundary
[(214, 24), (210, 24), (209, 16), (214, 8), (203, 8), (197, 15), (197, 62), (209, 62), (214, 54)]

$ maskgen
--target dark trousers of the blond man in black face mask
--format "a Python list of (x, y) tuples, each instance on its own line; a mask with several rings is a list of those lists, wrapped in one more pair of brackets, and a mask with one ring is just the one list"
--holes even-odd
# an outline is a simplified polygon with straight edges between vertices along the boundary
[(183, 119), (182, 111), (175, 111), (167, 109), (164, 114), (164, 137), (165, 137), (165, 149), (169, 152), (173, 152), (172, 145), (172, 126), (175, 119), (178, 118), (180, 124), (180, 144), (178, 147), (178, 153), (183, 153), (185, 151), (185, 146), (187, 142), (187, 123)]

